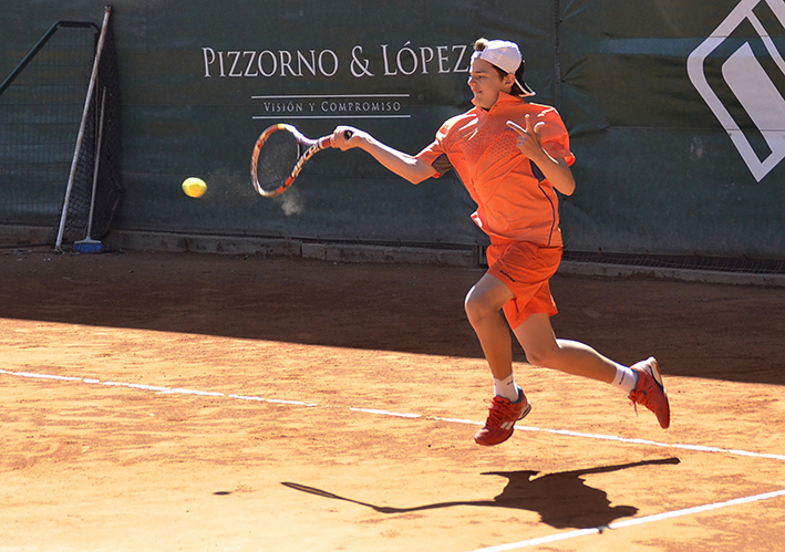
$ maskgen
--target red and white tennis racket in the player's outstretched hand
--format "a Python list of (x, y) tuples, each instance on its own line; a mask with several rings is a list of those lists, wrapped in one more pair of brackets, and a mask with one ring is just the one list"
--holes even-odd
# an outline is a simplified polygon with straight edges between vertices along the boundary
[[(351, 133), (347, 131), (345, 136), (349, 138)], [(266, 128), (256, 140), (250, 158), (254, 188), (264, 197), (283, 194), (306, 162), (331, 144), (332, 135), (310, 139), (285, 123)]]

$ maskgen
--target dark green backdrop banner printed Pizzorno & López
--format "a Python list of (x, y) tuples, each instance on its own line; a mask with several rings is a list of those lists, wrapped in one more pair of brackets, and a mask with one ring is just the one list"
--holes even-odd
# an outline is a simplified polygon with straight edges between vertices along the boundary
[[(0, 76), (56, 20), (103, 3), (0, 0)], [(338, 124), (410, 153), (467, 110), (469, 44), (520, 44), (578, 158), (574, 250), (785, 257), (785, 1), (120, 0), (124, 229), (472, 244), (448, 175), (411, 186), (361, 152), (319, 154), (264, 199), (259, 133)], [(781, 92), (782, 91), (782, 92)], [(195, 200), (179, 189), (198, 176)]]

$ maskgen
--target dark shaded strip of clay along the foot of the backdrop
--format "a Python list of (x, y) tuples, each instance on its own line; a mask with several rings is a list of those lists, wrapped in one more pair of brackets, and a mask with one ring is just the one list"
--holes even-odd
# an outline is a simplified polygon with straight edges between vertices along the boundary
[[(481, 354), (463, 312), (479, 269), (140, 252), (0, 256), (4, 317)], [(619, 362), (653, 354), (667, 374), (785, 383), (782, 288), (557, 275), (552, 289), (557, 335)]]

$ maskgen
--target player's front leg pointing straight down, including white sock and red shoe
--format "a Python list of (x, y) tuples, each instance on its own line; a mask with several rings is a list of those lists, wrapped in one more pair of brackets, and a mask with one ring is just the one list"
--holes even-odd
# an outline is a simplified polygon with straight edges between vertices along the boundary
[(502, 306), (513, 292), (497, 278), (485, 274), (466, 295), (465, 309), (494, 376), (494, 394), (485, 426), (475, 434), (478, 445), (498, 445), (512, 435), (515, 423), (530, 410), (526, 395), (515, 384), (513, 341), (502, 317)]

